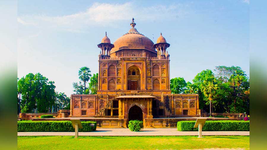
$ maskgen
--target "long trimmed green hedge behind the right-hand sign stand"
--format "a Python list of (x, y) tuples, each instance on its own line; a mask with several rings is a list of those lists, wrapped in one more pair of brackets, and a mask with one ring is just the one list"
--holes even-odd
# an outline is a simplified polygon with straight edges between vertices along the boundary
[[(179, 121), (177, 122), (177, 130), (198, 131), (198, 128), (194, 128), (195, 123), (196, 121)], [(206, 121), (202, 131), (249, 131), (249, 121)]]

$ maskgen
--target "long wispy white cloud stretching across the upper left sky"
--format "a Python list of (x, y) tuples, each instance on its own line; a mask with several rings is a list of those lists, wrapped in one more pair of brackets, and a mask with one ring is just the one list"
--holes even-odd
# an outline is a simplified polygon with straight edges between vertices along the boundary
[[(40, 28), (57, 28), (71, 32), (81, 32), (89, 25), (111, 26), (116, 21), (176, 19), (182, 13), (181, 5), (140, 7), (134, 3), (107, 4), (94, 3), (83, 12), (72, 15), (50, 17), (47, 15), (24, 15), (18, 17), (22, 25), (35, 25)], [(185, 14), (185, 13), (184, 13)]]

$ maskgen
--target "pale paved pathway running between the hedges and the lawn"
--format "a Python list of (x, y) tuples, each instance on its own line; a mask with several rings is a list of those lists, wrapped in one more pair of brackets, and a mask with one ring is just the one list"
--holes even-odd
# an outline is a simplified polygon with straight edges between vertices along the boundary
[[(74, 132), (18, 132), (18, 136), (69, 135)], [(168, 136), (198, 135), (198, 131), (177, 131), (176, 128), (144, 128), (131, 132), (128, 128), (97, 128), (94, 132), (79, 132), (80, 136)], [(249, 131), (203, 131), (202, 135), (249, 135)]]

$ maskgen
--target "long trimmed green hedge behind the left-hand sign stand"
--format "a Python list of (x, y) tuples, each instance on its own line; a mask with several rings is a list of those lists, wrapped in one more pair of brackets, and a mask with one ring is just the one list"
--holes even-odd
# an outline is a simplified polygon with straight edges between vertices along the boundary
[[(96, 122), (83, 121), (79, 132), (96, 130)], [(94, 124), (90, 126), (89, 124)], [(18, 132), (74, 132), (71, 121), (18, 121)]]

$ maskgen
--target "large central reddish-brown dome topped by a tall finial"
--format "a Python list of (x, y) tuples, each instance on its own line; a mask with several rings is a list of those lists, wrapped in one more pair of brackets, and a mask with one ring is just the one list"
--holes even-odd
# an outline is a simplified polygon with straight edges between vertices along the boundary
[(151, 39), (140, 34), (136, 28), (134, 28), (136, 25), (136, 23), (134, 23), (134, 18), (130, 25), (132, 28), (128, 31), (128, 33), (124, 34), (113, 43), (114, 48), (111, 49), (111, 53), (122, 49), (146, 49), (156, 52), (155, 48), (153, 48), (154, 43)]

